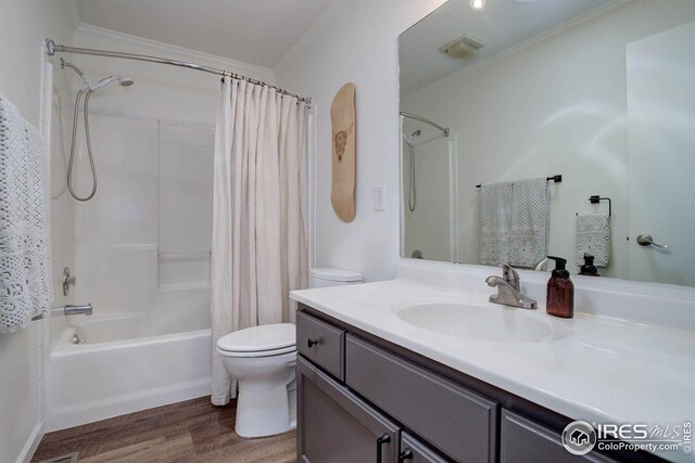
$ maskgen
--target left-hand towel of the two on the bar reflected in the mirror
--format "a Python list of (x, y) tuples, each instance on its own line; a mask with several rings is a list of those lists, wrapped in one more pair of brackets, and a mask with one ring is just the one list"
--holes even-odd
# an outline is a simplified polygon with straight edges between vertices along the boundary
[(509, 260), (511, 198), (511, 182), (480, 185), (480, 263)]

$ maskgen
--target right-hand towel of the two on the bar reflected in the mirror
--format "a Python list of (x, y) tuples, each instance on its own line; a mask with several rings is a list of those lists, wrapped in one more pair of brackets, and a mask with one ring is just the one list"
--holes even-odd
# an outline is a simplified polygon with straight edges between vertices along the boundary
[(547, 256), (547, 179), (536, 177), (511, 183), (508, 262), (515, 267), (533, 267)]

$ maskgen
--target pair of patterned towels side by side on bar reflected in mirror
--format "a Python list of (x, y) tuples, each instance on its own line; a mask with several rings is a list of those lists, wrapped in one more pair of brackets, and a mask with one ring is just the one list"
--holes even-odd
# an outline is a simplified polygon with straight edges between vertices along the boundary
[(547, 255), (545, 177), (480, 187), (480, 262), (533, 267)]

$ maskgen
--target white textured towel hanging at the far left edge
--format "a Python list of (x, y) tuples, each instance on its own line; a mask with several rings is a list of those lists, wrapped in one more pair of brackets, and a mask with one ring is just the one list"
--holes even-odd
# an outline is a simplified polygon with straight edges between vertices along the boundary
[(0, 333), (53, 298), (47, 163), (39, 131), (0, 95)]

